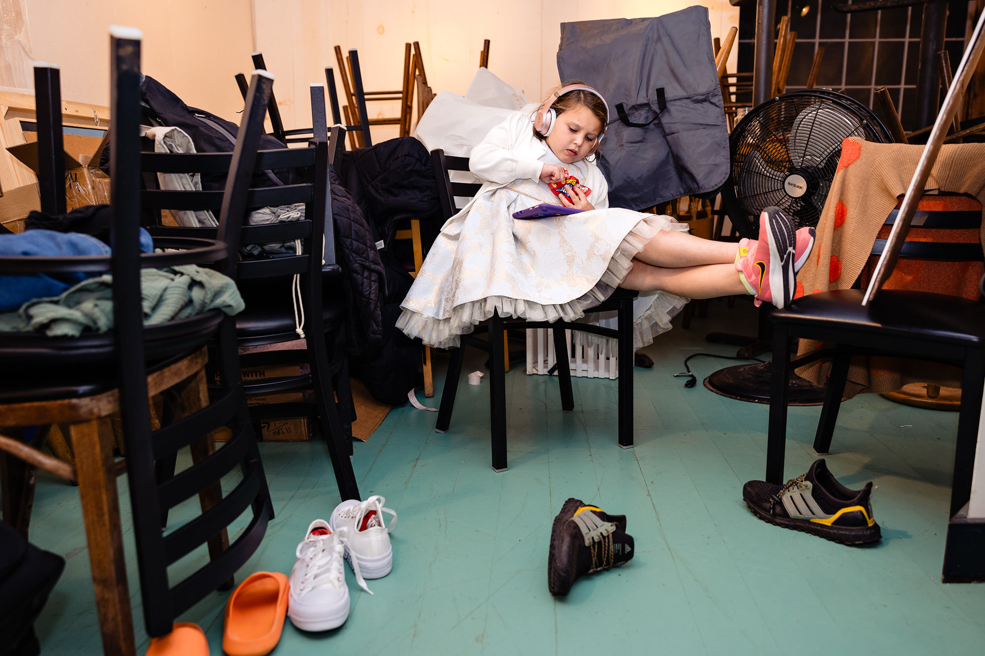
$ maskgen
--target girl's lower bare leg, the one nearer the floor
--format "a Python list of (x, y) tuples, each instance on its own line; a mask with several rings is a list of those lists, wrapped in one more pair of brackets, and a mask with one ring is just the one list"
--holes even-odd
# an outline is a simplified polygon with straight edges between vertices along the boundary
[(749, 294), (739, 276), (739, 272), (732, 264), (665, 269), (633, 260), (632, 269), (620, 287), (637, 292), (659, 290), (689, 298)]

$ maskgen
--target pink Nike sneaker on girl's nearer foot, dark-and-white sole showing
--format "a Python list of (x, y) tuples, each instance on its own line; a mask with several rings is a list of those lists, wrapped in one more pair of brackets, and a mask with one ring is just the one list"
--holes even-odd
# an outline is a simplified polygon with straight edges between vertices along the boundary
[[(794, 271), (797, 233), (794, 223), (776, 207), (768, 207), (759, 215), (759, 238), (739, 244), (736, 269), (746, 290), (755, 296), (755, 305), (762, 301), (785, 307), (793, 297), (796, 282)], [(813, 245), (814, 238), (808, 234)], [(805, 242), (805, 248), (807, 247)], [(806, 250), (810, 253), (810, 250)], [(807, 254), (802, 259), (807, 259)]]

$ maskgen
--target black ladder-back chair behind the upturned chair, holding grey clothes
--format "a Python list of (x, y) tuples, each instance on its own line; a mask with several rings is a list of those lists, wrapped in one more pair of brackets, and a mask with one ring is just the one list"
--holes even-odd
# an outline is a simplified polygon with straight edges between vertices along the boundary
[[(265, 78), (266, 79), (266, 78)], [(278, 417), (313, 416), (320, 418), (321, 434), (328, 445), (342, 499), (360, 498), (356, 475), (349, 455), (351, 432), (342, 425), (339, 406), (347, 417), (352, 406), (349, 392), (347, 359), (341, 345), (346, 316), (345, 301), (338, 291), (342, 270), (335, 258), (335, 230), (329, 193), (330, 153), (342, 140), (335, 127), (330, 142), (312, 141), (307, 148), (260, 151), (255, 165), (237, 180), (238, 197), (227, 212), (225, 224), (217, 232), (210, 228), (153, 227), (154, 234), (218, 236), (231, 252), (240, 246), (300, 240), (301, 254), (242, 259), (231, 277), (246, 301), (246, 309), (235, 317), (236, 344), (250, 347), (294, 342), (303, 316), (305, 347), (282, 351), (245, 353), (241, 366), (273, 364), (308, 364), (309, 373), (245, 381), (247, 394), (273, 394), (299, 389), (314, 389), (315, 402), (252, 406), (254, 422)], [(196, 153), (187, 155), (145, 153), (141, 161), (145, 172), (216, 172), (229, 170), (234, 154)], [(312, 182), (280, 187), (249, 188), (254, 170), (297, 168), (310, 171)], [(218, 210), (226, 208), (228, 192), (168, 191), (149, 189), (143, 192), (145, 209)], [(260, 226), (245, 225), (250, 210), (261, 207), (305, 204), (304, 220)], [(225, 211), (225, 210), (224, 210)], [(295, 290), (295, 277), (299, 276)], [(331, 355), (329, 351), (331, 350)], [(338, 379), (339, 404), (336, 404)], [(236, 373), (238, 378), (238, 372)]]

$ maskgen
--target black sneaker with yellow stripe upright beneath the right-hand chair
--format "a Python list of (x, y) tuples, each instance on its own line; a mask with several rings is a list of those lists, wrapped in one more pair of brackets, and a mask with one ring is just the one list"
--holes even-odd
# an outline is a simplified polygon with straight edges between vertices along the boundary
[(835, 481), (823, 458), (785, 486), (750, 481), (742, 489), (746, 505), (760, 519), (842, 545), (864, 545), (880, 539), (871, 494), (872, 483), (859, 491)]

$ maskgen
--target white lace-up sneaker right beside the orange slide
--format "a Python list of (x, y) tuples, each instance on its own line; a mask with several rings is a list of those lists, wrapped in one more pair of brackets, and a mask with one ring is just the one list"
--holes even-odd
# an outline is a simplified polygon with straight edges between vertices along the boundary
[[(341, 626), (349, 618), (349, 587), (342, 558), (346, 530), (333, 531), (324, 519), (308, 526), (307, 535), (297, 545), (295, 566), (291, 570), (288, 617), (297, 628), (324, 631)], [(360, 587), (372, 594), (354, 567)]]

